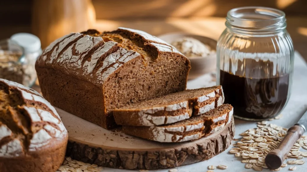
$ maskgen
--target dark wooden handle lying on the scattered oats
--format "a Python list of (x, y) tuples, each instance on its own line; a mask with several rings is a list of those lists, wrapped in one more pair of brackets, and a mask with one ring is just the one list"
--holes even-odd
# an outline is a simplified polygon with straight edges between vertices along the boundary
[(305, 127), (301, 124), (295, 124), (289, 128), (286, 136), (282, 139), (279, 145), (273, 151), (266, 155), (266, 166), (272, 170), (278, 169), (289, 154), (294, 143), (301, 138), (305, 132)]

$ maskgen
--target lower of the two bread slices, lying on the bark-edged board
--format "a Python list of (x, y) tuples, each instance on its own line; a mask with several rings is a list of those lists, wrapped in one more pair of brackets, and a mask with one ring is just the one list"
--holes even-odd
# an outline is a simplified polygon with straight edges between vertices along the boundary
[(232, 119), (233, 107), (224, 104), (199, 116), (161, 126), (123, 126), (126, 134), (158, 142), (184, 142), (220, 131)]

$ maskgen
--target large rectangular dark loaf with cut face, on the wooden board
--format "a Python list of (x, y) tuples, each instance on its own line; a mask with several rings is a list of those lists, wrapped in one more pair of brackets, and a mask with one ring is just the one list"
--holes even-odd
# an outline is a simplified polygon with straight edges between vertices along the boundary
[(155, 36), (119, 28), (63, 36), (35, 67), (52, 105), (112, 128), (114, 109), (185, 90), (190, 62)]

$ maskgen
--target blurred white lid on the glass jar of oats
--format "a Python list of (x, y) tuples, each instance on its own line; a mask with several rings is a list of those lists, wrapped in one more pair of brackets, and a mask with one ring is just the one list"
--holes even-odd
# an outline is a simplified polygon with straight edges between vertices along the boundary
[(25, 53), (37, 52), (41, 49), (41, 40), (31, 33), (16, 33), (11, 36), (22, 48)]

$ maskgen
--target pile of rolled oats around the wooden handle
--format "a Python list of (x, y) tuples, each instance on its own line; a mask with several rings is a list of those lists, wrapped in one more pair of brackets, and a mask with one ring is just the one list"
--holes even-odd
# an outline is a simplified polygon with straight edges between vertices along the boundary
[[(235, 154), (236, 157), (242, 157), (241, 162), (246, 163), (245, 168), (252, 168), (255, 171), (262, 171), (268, 167), (264, 163), (266, 155), (275, 149), (282, 138), (287, 133), (287, 128), (282, 128), (275, 124), (268, 124), (267, 121), (257, 123), (258, 128), (249, 129), (240, 135), (243, 136), (239, 142), (234, 144), (234, 147), (229, 151)], [(289, 165), (302, 165), (305, 163), (304, 157), (307, 157), (307, 151), (299, 151), (300, 148), (307, 149), (307, 136), (302, 136), (297, 143), (294, 144), (286, 159), (289, 160)], [(286, 163), (276, 170), (279, 171), (287, 166)], [(289, 170), (295, 170), (296, 166), (290, 166)]]

